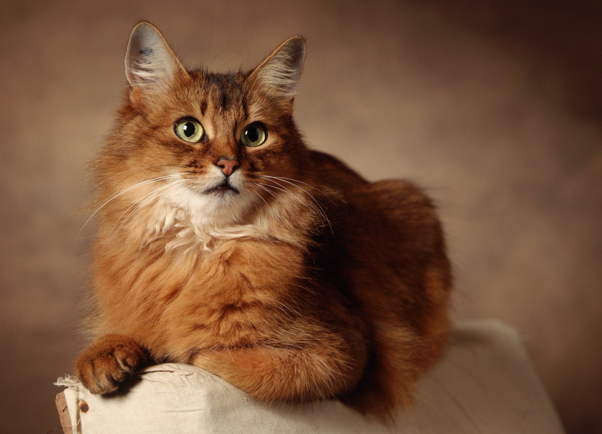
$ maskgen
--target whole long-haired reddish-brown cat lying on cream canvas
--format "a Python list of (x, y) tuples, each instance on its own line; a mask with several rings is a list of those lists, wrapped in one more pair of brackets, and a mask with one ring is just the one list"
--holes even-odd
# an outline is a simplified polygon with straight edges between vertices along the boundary
[(182, 66), (140, 22), (95, 160), (95, 394), (184, 362), (266, 402), (408, 406), (441, 357), (452, 287), (432, 202), (310, 150), (293, 122), (305, 40), (249, 72)]

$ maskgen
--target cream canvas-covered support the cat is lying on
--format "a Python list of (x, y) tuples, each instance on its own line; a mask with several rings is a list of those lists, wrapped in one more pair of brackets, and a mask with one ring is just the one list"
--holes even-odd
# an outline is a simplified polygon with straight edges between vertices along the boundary
[[(128, 391), (90, 394), (72, 377), (67, 406), (74, 433), (562, 433), (559, 419), (518, 333), (497, 321), (460, 324), (452, 346), (424, 377), (416, 405), (396, 426), (338, 401), (269, 406), (206, 371), (163, 364), (140, 373)], [(87, 412), (80, 406), (85, 401)]]

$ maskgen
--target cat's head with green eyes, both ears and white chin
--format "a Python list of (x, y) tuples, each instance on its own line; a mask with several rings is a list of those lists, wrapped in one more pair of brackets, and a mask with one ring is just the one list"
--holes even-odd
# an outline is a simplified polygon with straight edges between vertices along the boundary
[(138, 23), (126, 104), (98, 161), (101, 191), (118, 196), (117, 211), (175, 206), (201, 226), (311, 203), (308, 150), (292, 119), (304, 58), (296, 36), (249, 72), (187, 70), (155, 26)]

